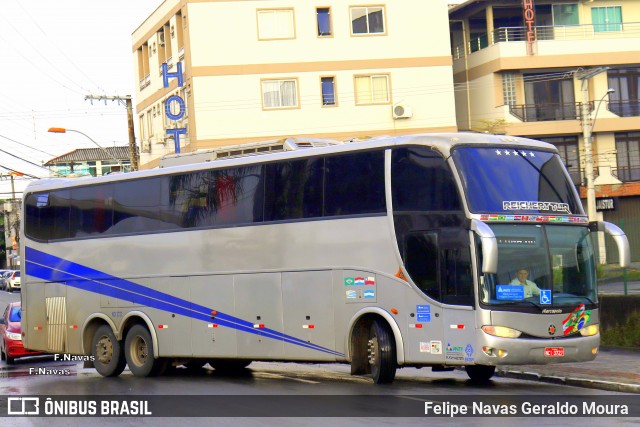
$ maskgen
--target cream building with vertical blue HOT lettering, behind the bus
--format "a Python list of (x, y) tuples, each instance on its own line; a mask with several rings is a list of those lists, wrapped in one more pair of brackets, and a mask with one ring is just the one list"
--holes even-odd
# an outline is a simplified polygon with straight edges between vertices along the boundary
[(166, 0), (133, 33), (141, 168), (289, 136), (456, 131), (447, 10)]

